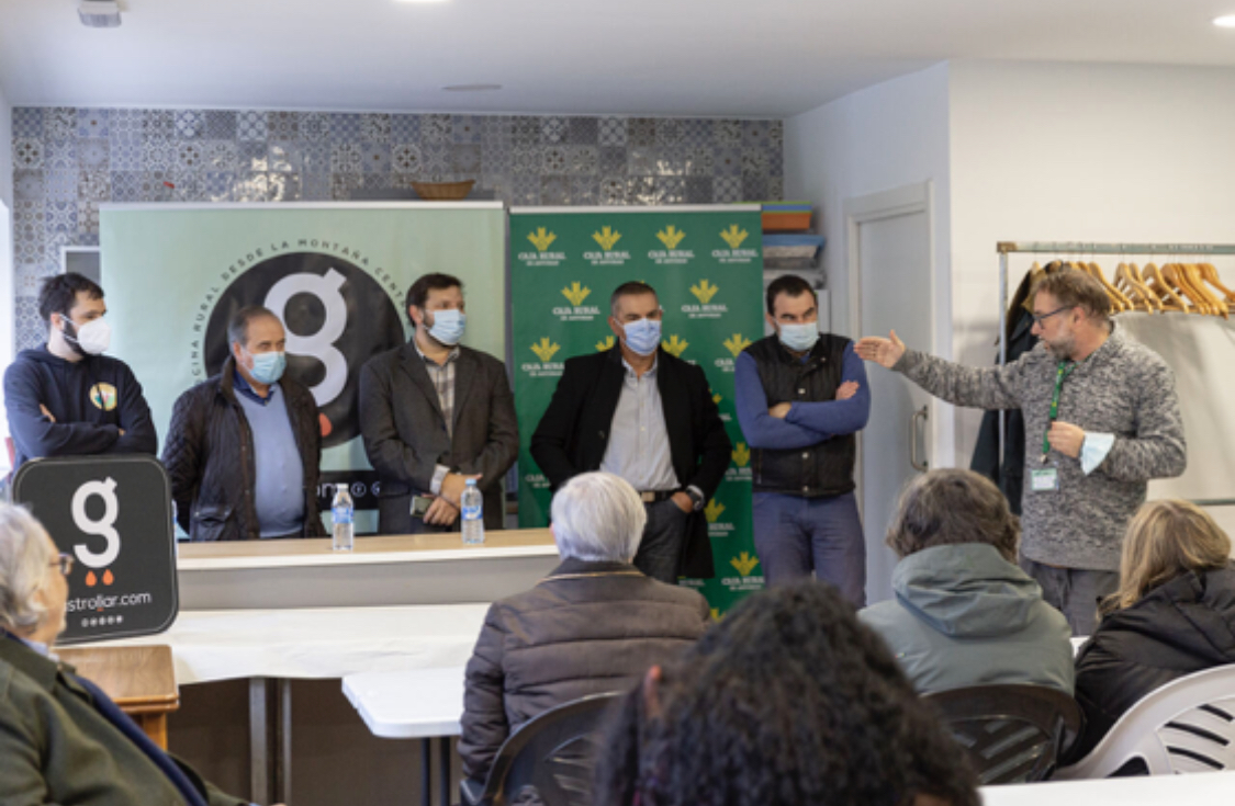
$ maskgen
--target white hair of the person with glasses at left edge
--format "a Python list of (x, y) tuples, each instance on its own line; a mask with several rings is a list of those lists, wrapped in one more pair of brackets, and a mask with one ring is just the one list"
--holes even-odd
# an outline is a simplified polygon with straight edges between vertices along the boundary
[(0, 504), (0, 629), (26, 633), (43, 620), (35, 594), (56, 559), (46, 533), (25, 509)]

